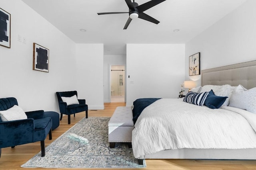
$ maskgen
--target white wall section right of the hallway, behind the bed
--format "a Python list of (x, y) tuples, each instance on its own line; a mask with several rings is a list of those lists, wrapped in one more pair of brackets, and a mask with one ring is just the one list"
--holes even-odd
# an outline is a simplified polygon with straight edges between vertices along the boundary
[(177, 98), (184, 62), (184, 44), (127, 44), (126, 105), (137, 98)]

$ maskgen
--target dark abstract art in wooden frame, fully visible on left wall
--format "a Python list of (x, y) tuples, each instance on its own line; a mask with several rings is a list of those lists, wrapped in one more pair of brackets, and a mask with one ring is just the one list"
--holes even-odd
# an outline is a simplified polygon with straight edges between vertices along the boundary
[(49, 49), (33, 43), (33, 70), (49, 72)]

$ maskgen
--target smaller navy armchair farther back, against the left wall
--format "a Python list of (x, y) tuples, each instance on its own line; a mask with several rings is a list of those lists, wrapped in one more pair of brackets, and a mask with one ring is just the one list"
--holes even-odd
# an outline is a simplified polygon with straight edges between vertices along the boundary
[(77, 97), (77, 91), (69, 91), (69, 92), (56, 92), (58, 103), (60, 107), (60, 120), (62, 119), (62, 115), (68, 115), (68, 124), (70, 124), (70, 115), (75, 113), (79, 113), (82, 111), (85, 111), (86, 118), (88, 118), (88, 105), (85, 104), (85, 99), (78, 99), (79, 104), (72, 104), (67, 106), (66, 102), (63, 102), (61, 97), (72, 97), (76, 95)]

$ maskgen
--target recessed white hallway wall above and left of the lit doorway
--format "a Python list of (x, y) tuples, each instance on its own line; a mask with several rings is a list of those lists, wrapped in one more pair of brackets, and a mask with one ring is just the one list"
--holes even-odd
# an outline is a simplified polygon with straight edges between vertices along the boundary
[(110, 66), (126, 66), (126, 55), (104, 55), (104, 102), (110, 102)]

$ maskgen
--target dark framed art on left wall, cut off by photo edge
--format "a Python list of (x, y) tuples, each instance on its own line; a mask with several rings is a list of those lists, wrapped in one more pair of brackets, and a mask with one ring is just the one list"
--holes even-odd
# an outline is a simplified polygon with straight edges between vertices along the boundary
[(0, 45), (11, 48), (11, 14), (0, 8)]

